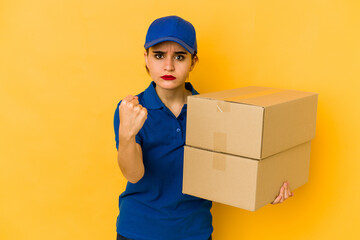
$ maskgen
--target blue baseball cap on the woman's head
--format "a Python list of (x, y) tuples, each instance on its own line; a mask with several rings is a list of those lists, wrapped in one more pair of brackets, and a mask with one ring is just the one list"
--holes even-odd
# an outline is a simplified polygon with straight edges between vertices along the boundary
[(197, 52), (194, 26), (178, 16), (156, 19), (148, 29), (144, 47), (148, 49), (165, 41), (177, 42), (191, 54)]

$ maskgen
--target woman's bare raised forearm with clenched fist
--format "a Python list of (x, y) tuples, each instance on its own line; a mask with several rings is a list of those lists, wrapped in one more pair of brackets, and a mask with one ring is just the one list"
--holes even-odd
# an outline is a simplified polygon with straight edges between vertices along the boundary
[(129, 95), (119, 106), (119, 148), (118, 165), (124, 177), (137, 183), (145, 173), (141, 146), (135, 141), (147, 118), (147, 110), (139, 104), (138, 98)]

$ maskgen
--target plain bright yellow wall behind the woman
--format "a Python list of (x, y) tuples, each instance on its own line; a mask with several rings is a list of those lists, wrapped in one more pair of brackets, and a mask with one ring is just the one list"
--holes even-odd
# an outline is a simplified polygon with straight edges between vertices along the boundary
[(113, 113), (149, 85), (146, 30), (172, 14), (197, 30), (199, 92), (319, 93), (309, 182), (256, 212), (214, 203), (214, 239), (359, 239), (357, 0), (1, 1), (0, 239), (115, 239)]

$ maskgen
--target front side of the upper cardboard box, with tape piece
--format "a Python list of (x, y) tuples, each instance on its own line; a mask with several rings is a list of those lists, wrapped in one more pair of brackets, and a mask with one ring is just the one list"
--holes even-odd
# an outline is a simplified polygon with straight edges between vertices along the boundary
[(260, 159), (264, 108), (189, 98), (186, 145)]

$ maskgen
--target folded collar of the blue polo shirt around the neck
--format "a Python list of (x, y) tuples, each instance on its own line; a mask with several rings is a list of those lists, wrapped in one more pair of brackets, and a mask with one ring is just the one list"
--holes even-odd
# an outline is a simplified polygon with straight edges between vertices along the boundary
[[(152, 81), (149, 87), (144, 91), (144, 107), (147, 109), (160, 109), (165, 107), (164, 103), (160, 100), (155, 90), (155, 82)], [(199, 94), (190, 82), (185, 82), (185, 88), (190, 90), (192, 95)]]

